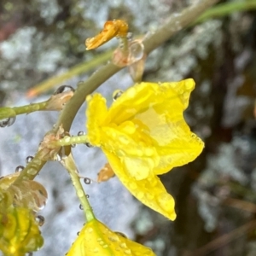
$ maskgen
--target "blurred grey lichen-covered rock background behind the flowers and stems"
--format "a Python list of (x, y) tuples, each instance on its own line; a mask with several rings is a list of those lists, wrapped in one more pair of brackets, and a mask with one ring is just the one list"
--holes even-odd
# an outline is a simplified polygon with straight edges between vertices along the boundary
[[(74, 76), (70, 75), (73, 66), (99, 58), (96, 67), (100, 67), (106, 63), (108, 49), (117, 46), (113, 39), (85, 51), (85, 38), (100, 32), (106, 20), (126, 20), (134, 36), (144, 35), (196, 2), (1, 0), (0, 106), (41, 102), (62, 84), (76, 88), (96, 68), (90, 64)], [(238, 2), (243, 7), (234, 9)], [(171, 222), (143, 207), (117, 177), (108, 183), (84, 184), (97, 218), (152, 247), (158, 256), (256, 255), (255, 2), (220, 1), (229, 4), (230, 14), (220, 9), (218, 18), (189, 26), (148, 56), (144, 81), (193, 78), (196, 82), (185, 119), (206, 147), (193, 163), (160, 177), (176, 200), (177, 219)], [(28, 97), (36, 84), (63, 73), (68, 74), (67, 80)], [(113, 90), (131, 84), (124, 69), (98, 91), (111, 103)], [(74, 135), (85, 129), (84, 108), (73, 123)], [(57, 116), (30, 113), (1, 128), (1, 176), (25, 165)], [(96, 180), (106, 163), (100, 150), (79, 145), (73, 154), (79, 172)], [(44, 247), (34, 255), (64, 255), (84, 224), (83, 212), (59, 163), (47, 163), (37, 180), (44, 184), (49, 200), (41, 212)]]

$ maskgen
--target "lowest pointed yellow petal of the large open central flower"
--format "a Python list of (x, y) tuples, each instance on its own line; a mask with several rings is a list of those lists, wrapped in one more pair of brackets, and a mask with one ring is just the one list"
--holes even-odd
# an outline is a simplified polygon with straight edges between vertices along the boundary
[[(160, 212), (166, 218), (174, 220), (176, 213), (174, 210), (174, 200), (172, 195), (166, 192), (164, 185), (160, 182), (160, 178), (155, 175), (141, 180), (133, 179), (128, 172), (125, 172), (124, 165), (119, 158), (106, 150), (104, 150), (109, 164), (113, 168), (113, 172), (119, 177), (119, 180), (137, 197), (139, 201), (150, 207), (156, 212)], [(134, 166), (136, 167), (136, 166)]]

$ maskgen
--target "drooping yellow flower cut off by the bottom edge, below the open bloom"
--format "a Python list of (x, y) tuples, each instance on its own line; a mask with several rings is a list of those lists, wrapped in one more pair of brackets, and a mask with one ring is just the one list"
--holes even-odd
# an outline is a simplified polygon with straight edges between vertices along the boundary
[(109, 230), (107, 226), (93, 219), (84, 225), (67, 256), (155, 256), (148, 247), (131, 241)]

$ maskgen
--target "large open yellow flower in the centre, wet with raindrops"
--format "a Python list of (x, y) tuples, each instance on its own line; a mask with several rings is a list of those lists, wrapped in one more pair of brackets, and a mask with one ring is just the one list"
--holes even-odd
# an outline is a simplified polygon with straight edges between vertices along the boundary
[(157, 175), (201, 154), (204, 143), (183, 119), (193, 79), (141, 83), (110, 108), (100, 94), (87, 97), (88, 141), (102, 148), (113, 172), (148, 207), (174, 220), (174, 200)]

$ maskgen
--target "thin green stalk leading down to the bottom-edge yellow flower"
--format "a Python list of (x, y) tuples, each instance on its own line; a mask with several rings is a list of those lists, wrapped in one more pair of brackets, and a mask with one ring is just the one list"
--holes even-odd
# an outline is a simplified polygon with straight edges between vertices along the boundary
[(73, 160), (72, 154), (69, 154), (67, 157), (62, 158), (61, 164), (67, 169), (67, 172), (71, 177), (73, 186), (76, 189), (77, 195), (79, 197), (79, 201), (84, 209), (84, 215), (87, 222), (95, 219), (92, 208), (90, 207), (90, 203), (87, 200), (87, 197), (85, 195), (84, 188), (80, 183), (80, 179), (78, 176), (78, 169), (75, 166), (75, 162)]

